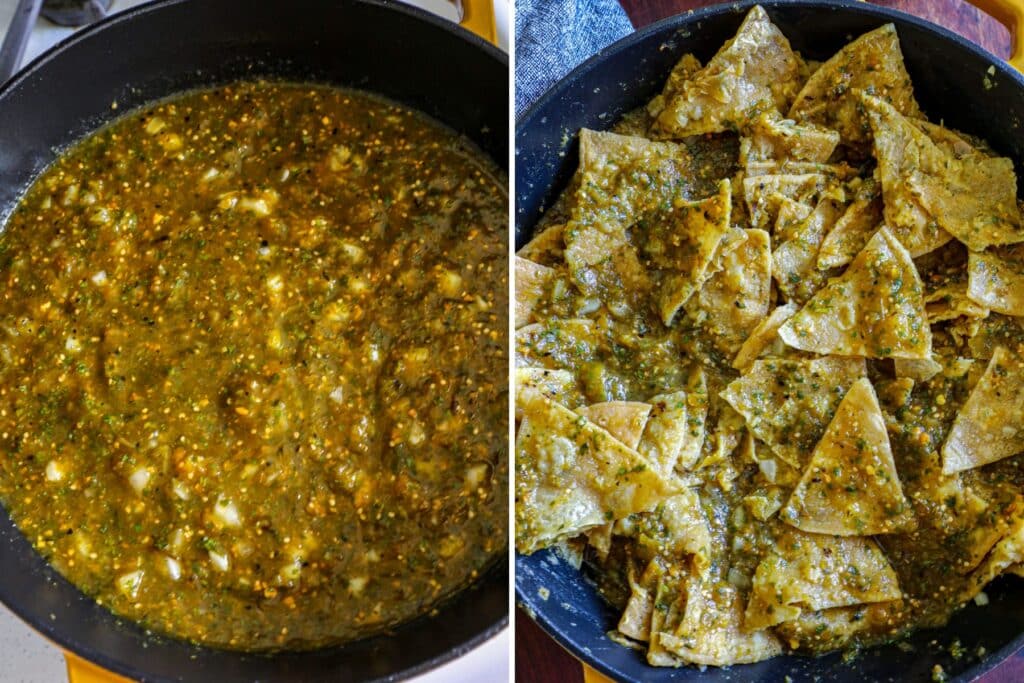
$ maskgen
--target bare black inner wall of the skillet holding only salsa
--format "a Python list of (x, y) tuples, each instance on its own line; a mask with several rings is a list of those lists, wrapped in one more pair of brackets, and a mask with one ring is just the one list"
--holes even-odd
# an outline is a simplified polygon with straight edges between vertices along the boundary
[[(169, 0), (85, 29), (0, 89), (0, 215), (61, 147), (112, 118), (181, 90), (258, 76), (373, 90), (446, 123), (507, 168), (507, 58), (456, 26), (372, 0)], [(135, 680), (413, 676), (508, 623), (508, 571), (499, 559), (435, 616), (393, 635), (245, 655), (148, 636), (114, 617), (51, 569), (0, 512), (0, 600), (61, 647)]]

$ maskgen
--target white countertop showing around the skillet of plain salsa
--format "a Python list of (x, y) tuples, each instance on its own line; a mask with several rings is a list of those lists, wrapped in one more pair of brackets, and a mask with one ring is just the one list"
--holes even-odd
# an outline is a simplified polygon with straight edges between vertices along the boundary
[[(142, 0), (114, 0), (113, 10), (122, 10), (141, 4)], [(6, 31), (14, 13), (16, 0), (0, 0), (0, 27)], [(449, 18), (456, 16), (454, 6), (445, 0), (410, 0), (410, 4), (423, 7)], [(507, 51), (509, 43), (509, 4), (497, 0), (505, 11), (498, 12), (499, 42)], [(35, 58), (54, 43), (67, 38), (72, 29), (55, 27), (45, 19), (33, 31), (26, 49), (26, 62)], [(509, 630), (483, 643), (463, 657), (425, 674), (416, 683), (504, 683), (509, 680), (511, 642)], [(63, 656), (60, 651), (25, 625), (10, 610), (0, 605), (0, 683), (59, 683), (67, 680)]]

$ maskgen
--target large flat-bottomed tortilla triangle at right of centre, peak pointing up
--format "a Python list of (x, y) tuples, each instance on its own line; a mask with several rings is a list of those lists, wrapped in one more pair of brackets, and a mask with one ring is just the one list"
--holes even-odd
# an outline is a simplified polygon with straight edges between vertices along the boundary
[(910, 255), (885, 227), (853, 263), (778, 334), (804, 351), (867, 358), (929, 358), (924, 285)]

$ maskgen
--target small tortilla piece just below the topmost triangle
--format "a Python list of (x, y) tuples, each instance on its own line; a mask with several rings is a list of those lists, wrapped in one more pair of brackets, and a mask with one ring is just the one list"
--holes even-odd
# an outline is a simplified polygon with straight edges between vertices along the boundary
[(835, 130), (798, 124), (774, 112), (766, 112), (755, 119), (748, 132), (750, 136), (743, 138), (739, 147), (740, 166), (765, 161), (823, 164), (840, 141)]

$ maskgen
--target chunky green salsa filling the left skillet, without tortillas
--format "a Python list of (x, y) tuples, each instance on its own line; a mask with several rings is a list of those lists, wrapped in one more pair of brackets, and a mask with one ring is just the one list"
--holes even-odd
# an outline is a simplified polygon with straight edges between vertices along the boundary
[(62, 154), (0, 237), (0, 498), (97, 602), (240, 649), (427, 612), (507, 546), (506, 180), (244, 82)]

